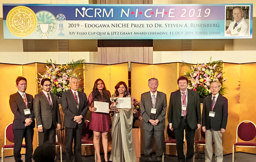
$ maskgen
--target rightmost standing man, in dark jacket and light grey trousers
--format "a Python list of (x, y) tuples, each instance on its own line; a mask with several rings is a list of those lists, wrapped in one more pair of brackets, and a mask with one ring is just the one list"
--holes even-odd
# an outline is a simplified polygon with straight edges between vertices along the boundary
[(228, 99), (219, 94), (220, 84), (211, 82), (212, 95), (205, 97), (202, 129), (205, 132), (205, 161), (212, 161), (212, 138), (215, 143), (215, 161), (223, 161), (222, 133), (226, 131), (228, 122)]

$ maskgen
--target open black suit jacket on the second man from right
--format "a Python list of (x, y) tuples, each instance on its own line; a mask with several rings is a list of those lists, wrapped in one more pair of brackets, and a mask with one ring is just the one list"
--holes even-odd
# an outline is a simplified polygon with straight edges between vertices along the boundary
[[(180, 90), (171, 93), (168, 121), (173, 129), (177, 129), (181, 118), (181, 94)], [(201, 124), (201, 107), (199, 93), (188, 89), (187, 120), (191, 129), (196, 130), (197, 124)]]

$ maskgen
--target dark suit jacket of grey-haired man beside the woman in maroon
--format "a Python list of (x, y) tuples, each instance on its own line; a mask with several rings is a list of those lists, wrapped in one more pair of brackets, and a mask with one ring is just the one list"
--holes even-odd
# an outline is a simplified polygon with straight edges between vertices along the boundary
[[(76, 106), (76, 99), (73, 95), (71, 89), (69, 91), (62, 93), (61, 103), (62, 103), (62, 111), (65, 114), (64, 116), (64, 127), (75, 128), (78, 125), (79, 129), (83, 129), (84, 127), (84, 117), (87, 114), (89, 109), (87, 103), (87, 97), (84, 92), (78, 92), (79, 105), (78, 109)], [(82, 115), (82, 123), (78, 124), (73, 121), (75, 116)]]

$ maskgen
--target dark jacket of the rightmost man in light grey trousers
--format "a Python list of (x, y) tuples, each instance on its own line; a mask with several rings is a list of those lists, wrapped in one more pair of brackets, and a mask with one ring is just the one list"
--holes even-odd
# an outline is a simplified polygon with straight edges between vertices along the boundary
[(212, 95), (205, 97), (202, 114), (202, 126), (205, 126), (206, 130), (220, 131), (225, 129), (228, 122), (228, 99), (219, 94), (213, 112), (214, 117), (209, 116), (209, 112), (212, 110)]

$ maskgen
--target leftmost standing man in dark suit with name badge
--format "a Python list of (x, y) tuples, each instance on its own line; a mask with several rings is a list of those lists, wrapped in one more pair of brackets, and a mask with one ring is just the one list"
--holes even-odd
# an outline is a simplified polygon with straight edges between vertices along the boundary
[(33, 136), (35, 127), (35, 115), (33, 110), (33, 96), (26, 93), (27, 79), (18, 76), (16, 79), (16, 87), (18, 92), (10, 95), (10, 107), (14, 114), (12, 125), (14, 135), (13, 155), (15, 162), (22, 162), (21, 160), (21, 146), (23, 138), (26, 143), (25, 161), (32, 161), (33, 154)]

